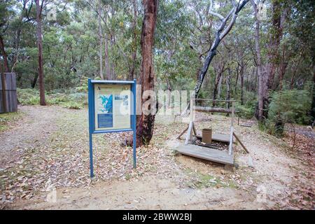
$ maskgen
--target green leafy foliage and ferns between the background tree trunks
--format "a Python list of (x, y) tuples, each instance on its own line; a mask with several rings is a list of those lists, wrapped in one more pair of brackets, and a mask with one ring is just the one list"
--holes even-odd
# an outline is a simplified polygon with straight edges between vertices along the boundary
[[(22, 105), (38, 105), (38, 48), (36, 8), (30, 1), (5, 0), (0, 4), (0, 35), (4, 50), (8, 55), (9, 70), (17, 73), (18, 97)], [(66, 3), (66, 6), (64, 5)], [(132, 1), (50, 1), (48, 5), (57, 6), (56, 20), (43, 16), (43, 67), (46, 101), (50, 105), (67, 108), (82, 108), (87, 104), (87, 78), (99, 79), (99, 17), (103, 34), (103, 70), (106, 78), (111, 73), (113, 79), (127, 79), (134, 65), (134, 78), (139, 78), (141, 64), (141, 26), (143, 23), (143, 4), (136, 0), (137, 18), (134, 17)], [(263, 66), (269, 62), (270, 37), (277, 30), (272, 26), (274, 1), (266, 1), (268, 20), (260, 21), (260, 47)], [(214, 10), (222, 15), (230, 11), (230, 1), (218, 1)], [(239, 13), (235, 26), (225, 36), (209, 66), (204, 79), (201, 98), (230, 99), (237, 104), (242, 118), (252, 118), (257, 105), (258, 78), (255, 55), (255, 19), (248, 3)], [(65, 8), (63, 8), (65, 6)], [(218, 18), (209, 13), (207, 0), (165, 0), (159, 2), (155, 29), (153, 62), (157, 90), (193, 90), (198, 71), (211, 48), (218, 27)], [(313, 1), (282, 1), (281, 10), (286, 12), (283, 35), (280, 38), (278, 57), (274, 59), (274, 83), (272, 88), (279, 90), (280, 72), (282, 90), (297, 88), (305, 90), (313, 86), (314, 74), (314, 3)], [(30, 13), (28, 18), (25, 12)], [(44, 4), (43, 15), (48, 14)], [(134, 27), (135, 25), (135, 27)], [(279, 31), (279, 30), (278, 30)], [(108, 50), (105, 52), (105, 43)], [(134, 52), (137, 53), (135, 59)], [(1, 53), (2, 55), (2, 53)], [(109, 68), (105, 66), (105, 56)], [(283, 57), (283, 58), (282, 58)], [(15, 59), (17, 63), (15, 63)], [(283, 60), (284, 59), (284, 60)], [(283, 62), (283, 63), (282, 63)], [(106, 71), (106, 70), (110, 71)], [(221, 74), (220, 87), (215, 90), (218, 73)], [(309, 83), (311, 81), (311, 83)], [(288, 84), (287, 84), (288, 83)], [(308, 84), (309, 83), (309, 84)], [(33, 86), (34, 85), (34, 86)], [(30, 89), (32, 87), (32, 89)], [(301, 94), (301, 92), (298, 92)], [(276, 103), (276, 97), (290, 101), (292, 96), (284, 92), (275, 94), (270, 105), (270, 116), (266, 128), (272, 123), (307, 123), (306, 103), (303, 99), (293, 99), (294, 108)], [(311, 99), (309, 102), (311, 102)], [(302, 100), (302, 101), (301, 101)], [(299, 103), (299, 104), (297, 104)], [(296, 106), (297, 105), (297, 106)], [(211, 103), (207, 106), (211, 106)], [(224, 102), (217, 106), (226, 107)], [(284, 111), (284, 112), (283, 112)]]

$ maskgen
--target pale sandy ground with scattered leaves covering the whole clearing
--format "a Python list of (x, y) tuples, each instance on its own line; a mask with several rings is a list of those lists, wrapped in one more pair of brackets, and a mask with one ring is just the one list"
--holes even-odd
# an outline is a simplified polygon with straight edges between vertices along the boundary
[[(296, 209), (288, 205), (289, 195), (292, 195), (295, 176), (306, 167), (297, 158), (287, 155), (283, 150), (286, 146), (279, 140), (260, 132), (255, 126), (236, 127), (236, 133), (250, 151), (248, 155), (241, 146), (235, 146), (237, 169), (174, 155), (174, 147), (181, 144), (176, 137), (186, 125), (165, 124), (164, 118), (157, 119), (157, 134), (148, 146), (151, 151), (147, 148), (139, 150), (137, 172), (130, 168), (130, 153), (118, 142), (113, 147), (104, 143), (120, 136), (99, 137), (96, 145), (104, 144), (108, 152), (96, 155), (95, 166), (100, 177), (90, 181), (85, 146), (88, 140), (87, 111), (58, 106), (23, 106), (20, 111), (25, 113), (24, 118), (0, 134), (0, 177), (4, 180), (1, 181), (0, 202), (3, 209)], [(217, 132), (228, 132), (229, 119), (212, 116), (211, 122), (197, 123), (197, 127), (211, 125)], [(66, 123), (68, 120), (71, 122)], [(173, 118), (170, 120), (170, 123), (174, 121)], [(71, 130), (76, 131), (75, 136)], [(36, 150), (29, 155), (28, 148)], [(113, 148), (116, 151), (109, 154)], [(59, 151), (64, 154), (59, 155)], [(41, 155), (44, 163), (32, 160), (29, 169), (48, 167), (44, 174), (36, 174), (42, 176), (40, 183), (33, 184), (35, 174), (22, 177), (12, 174), (19, 173), (17, 169), (21, 164), (27, 167), (20, 162), (25, 157), (39, 158), (36, 153)], [(52, 157), (52, 162), (46, 161), (46, 157)], [(62, 162), (58, 160), (69, 167), (60, 165)], [(118, 160), (124, 161), (125, 165), (120, 166)], [(59, 178), (64, 176), (65, 170), (72, 182), (66, 179), (68, 177)], [(77, 184), (78, 180), (80, 184)], [(27, 185), (26, 195), (29, 197), (22, 193), (25, 188), (17, 190), (21, 184), (23, 187)], [(309, 184), (314, 186), (313, 181)]]

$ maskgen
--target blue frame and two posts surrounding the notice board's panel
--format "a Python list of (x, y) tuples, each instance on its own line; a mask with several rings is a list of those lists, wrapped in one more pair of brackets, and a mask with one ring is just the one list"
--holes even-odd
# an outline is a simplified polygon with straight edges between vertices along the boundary
[[(130, 85), (130, 90), (132, 92), (132, 97), (130, 99), (130, 124), (131, 128), (127, 129), (113, 129), (113, 130), (96, 130), (95, 129), (95, 95), (94, 95), (94, 85)], [(132, 81), (123, 81), (123, 80), (92, 80), (88, 79), (88, 109), (89, 109), (89, 137), (90, 137), (90, 176), (94, 177), (93, 170), (93, 134), (104, 134), (104, 133), (113, 133), (113, 132), (133, 132), (133, 165), (134, 169), (137, 167), (137, 80)]]

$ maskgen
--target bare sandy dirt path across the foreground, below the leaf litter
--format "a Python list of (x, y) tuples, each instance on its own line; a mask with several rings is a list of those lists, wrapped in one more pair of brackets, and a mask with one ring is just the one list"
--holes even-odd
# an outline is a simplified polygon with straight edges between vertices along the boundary
[(59, 189), (56, 202), (34, 201), (23, 209), (263, 209), (242, 190), (180, 188), (170, 179), (99, 183), (90, 190)]

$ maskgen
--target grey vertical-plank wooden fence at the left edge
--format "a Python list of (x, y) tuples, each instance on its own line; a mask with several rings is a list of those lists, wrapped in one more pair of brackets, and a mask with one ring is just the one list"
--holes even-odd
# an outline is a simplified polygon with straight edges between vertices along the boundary
[(15, 73), (1, 73), (0, 113), (18, 111)]

